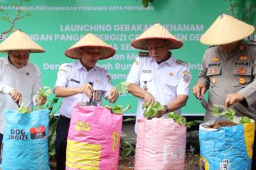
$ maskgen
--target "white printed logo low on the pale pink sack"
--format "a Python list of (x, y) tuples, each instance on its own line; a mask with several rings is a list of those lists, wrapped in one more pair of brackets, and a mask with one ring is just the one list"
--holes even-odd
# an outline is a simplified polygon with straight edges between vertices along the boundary
[(171, 159), (185, 159), (186, 147), (180, 146), (176, 149), (170, 145), (163, 147), (163, 162), (170, 162)]

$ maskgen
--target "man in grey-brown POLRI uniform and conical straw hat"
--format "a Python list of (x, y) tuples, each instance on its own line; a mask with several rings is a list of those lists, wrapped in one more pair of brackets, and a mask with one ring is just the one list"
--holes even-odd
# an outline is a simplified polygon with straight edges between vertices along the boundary
[[(233, 106), (238, 116), (256, 120), (256, 47), (245, 40), (255, 28), (231, 16), (222, 14), (201, 37), (206, 50), (193, 94), (200, 98), (208, 90), (209, 111), (205, 120), (213, 117), (213, 104)], [(253, 156), (255, 159), (255, 149)], [(252, 169), (254, 160), (252, 161)]]

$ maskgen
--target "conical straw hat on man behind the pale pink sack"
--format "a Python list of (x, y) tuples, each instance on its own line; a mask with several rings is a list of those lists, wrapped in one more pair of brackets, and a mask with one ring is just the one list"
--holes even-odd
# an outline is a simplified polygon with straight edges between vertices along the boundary
[(146, 40), (149, 39), (163, 39), (169, 41), (169, 50), (178, 49), (182, 47), (183, 43), (174, 35), (171, 35), (166, 28), (161, 26), (159, 23), (154, 24), (149, 29), (145, 30), (142, 35), (139, 35), (138, 38), (131, 42), (132, 47), (135, 47), (140, 50), (147, 50)]

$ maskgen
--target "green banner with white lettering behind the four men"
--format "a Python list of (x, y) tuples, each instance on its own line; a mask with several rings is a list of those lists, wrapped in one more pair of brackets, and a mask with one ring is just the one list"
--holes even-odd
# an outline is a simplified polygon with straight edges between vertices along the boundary
[[(220, 13), (231, 15), (231, 12), (230, 2), (223, 0), (155, 0), (147, 8), (141, 0), (0, 0), (0, 42), (6, 38), (4, 33), (8, 35), (18, 28), (36, 40), (46, 52), (31, 54), (30, 61), (41, 69), (42, 85), (53, 87), (60, 64), (75, 62), (65, 57), (65, 50), (83, 35), (93, 33), (117, 50), (114, 57), (98, 62), (110, 72), (117, 85), (125, 81), (138, 56), (138, 50), (130, 42), (154, 23), (161, 23), (183, 41), (183, 47), (172, 52), (176, 59), (188, 62), (192, 89), (203, 52), (208, 48), (199, 38)], [(136, 114), (134, 96), (124, 94), (117, 104), (131, 104), (127, 115)], [(181, 112), (203, 115), (204, 110), (191, 92)]]

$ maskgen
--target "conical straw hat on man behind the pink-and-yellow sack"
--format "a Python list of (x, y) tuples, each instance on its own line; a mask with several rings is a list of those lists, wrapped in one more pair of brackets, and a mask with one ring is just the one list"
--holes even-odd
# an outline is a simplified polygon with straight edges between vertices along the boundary
[(114, 48), (107, 45), (104, 41), (97, 38), (92, 33), (88, 33), (81, 40), (75, 43), (72, 47), (65, 51), (65, 55), (78, 59), (80, 47), (100, 47), (100, 60), (112, 57), (115, 54)]

